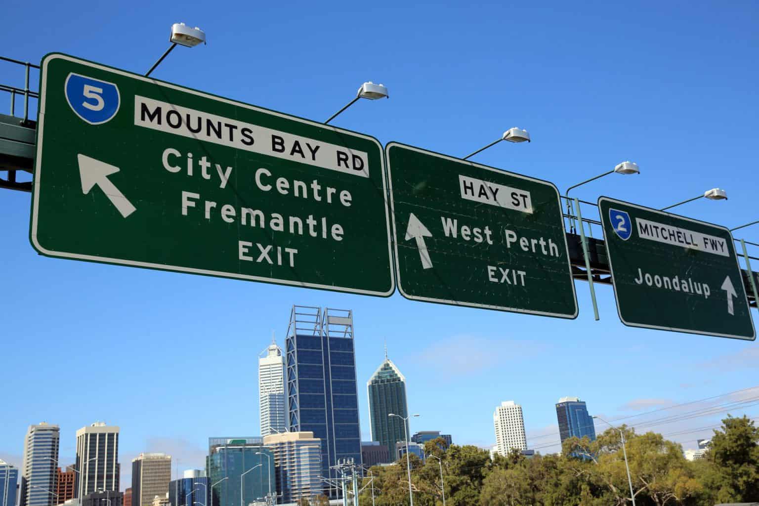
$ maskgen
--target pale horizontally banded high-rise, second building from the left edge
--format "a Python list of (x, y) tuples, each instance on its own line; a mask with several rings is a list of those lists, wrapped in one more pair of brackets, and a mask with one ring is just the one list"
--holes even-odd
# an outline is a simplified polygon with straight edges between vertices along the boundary
[(30, 425), (24, 438), (24, 462), (21, 464), (20, 506), (50, 506), (55, 501), (58, 445), (61, 431), (57, 425)]

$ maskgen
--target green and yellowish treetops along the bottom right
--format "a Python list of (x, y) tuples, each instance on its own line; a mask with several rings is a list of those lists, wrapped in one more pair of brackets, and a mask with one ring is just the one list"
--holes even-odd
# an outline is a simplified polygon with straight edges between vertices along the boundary
[[(526, 458), (514, 451), (490, 458), (474, 446), (441, 448), (427, 442), (426, 462), (411, 456), (414, 506), (628, 506), (630, 467), (636, 506), (713, 506), (759, 500), (759, 429), (747, 418), (728, 418), (715, 431), (707, 458), (688, 462), (682, 447), (653, 432), (622, 426), (588, 438), (569, 438), (562, 453)], [(442, 442), (442, 440), (440, 440)], [(431, 443), (431, 444), (430, 444)], [(373, 467), (374, 504), (408, 505), (406, 460)], [(361, 504), (371, 503), (364, 478)]]

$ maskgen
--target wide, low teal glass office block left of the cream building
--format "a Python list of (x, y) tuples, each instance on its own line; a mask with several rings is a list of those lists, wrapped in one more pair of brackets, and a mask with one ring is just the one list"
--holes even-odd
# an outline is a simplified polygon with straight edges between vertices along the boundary
[(263, 446), (263, 438), (209, 438), (208, 446), (208, 480), (216, 483), (211, 491), (214, 506), (263, 503), (269, 490), (276, 495), (274, 455)]

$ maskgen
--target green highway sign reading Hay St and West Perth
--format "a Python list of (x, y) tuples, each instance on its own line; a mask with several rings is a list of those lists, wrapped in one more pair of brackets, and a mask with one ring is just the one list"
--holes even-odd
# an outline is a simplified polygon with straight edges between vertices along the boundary
[(553, 184), (399, 143), (385, 150), (404, 297), (577, 316)]

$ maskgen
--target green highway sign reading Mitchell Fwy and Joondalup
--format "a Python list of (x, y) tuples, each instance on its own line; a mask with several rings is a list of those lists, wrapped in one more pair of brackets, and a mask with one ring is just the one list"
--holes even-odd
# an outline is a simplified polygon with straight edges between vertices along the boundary
[(727, 228), (605, 196), (598, 206), (625, 325), (754, 339)]

